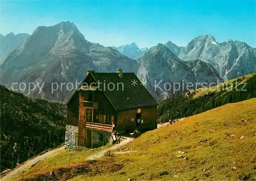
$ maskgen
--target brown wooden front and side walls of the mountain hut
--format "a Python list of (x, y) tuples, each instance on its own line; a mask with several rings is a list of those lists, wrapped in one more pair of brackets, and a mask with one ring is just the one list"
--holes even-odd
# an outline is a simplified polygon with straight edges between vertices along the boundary
[[(97, 80), (95, 80), (93, 73), (89, 73), (82, 83), (97, 85)], [(118, 99), (118, 97), (116, 98)], [(130, 109), (126, 109), (129, 107), (127, 105), (125, 109), (117, 109), (113, 102), (113, 98), (111, 99), (98, 86), (84, 86), (81, 84), (76, 90), (67, 102), (67, 124), (78, 126), (77, 146), (93, 147), (94, 132), (111, 133), (112, 122), (115, 123), (115, 129), (119, 133), (127, 132), (129, 128), (152, 130), (157, 127), (156, 104), (154, 102), (153, 105), (143, 107), (132, 108), (130, 106)], [(125, 102), (123, 104), (125, 106)], [(137, 118), (142, 119), (143, 124), (138, 124)]]

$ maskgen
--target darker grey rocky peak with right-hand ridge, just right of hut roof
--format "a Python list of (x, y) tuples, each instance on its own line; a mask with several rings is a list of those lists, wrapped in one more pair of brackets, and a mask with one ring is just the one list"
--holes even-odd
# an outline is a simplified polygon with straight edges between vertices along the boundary
[[(174, 91), (174, 83), (179, 83), (181, 86), (183, 83), (186, 87), (188, 83), (193, 83), (195, 86), (195, 83), (207, 85), (222, 82), (218, 72), (209, 63), (201, 60), (182, 61), (163, 44), (152, 47), (138, 61), (140, 62), (138, 77), (157, 99), (181, 92), (182, 88), (177, 92)], [(156, 85), (160, 88), (155, 89)]]

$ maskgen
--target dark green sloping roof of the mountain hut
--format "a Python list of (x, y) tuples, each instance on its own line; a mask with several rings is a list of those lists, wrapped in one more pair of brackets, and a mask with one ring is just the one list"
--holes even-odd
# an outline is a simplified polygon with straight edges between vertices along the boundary
[[(122, 77), (119, 77), (118, 73), (91, 72), (91, 74), (97, 82), (102, 83), (99, 89), (105, 92), (117, 111), (157, 105), (156, 100), (142, 85), (135, 73), (122, 73)], [(132, 81), (137, 84), (132, 85)], [(108, 85), (110, 89), (113, 89), (115, 85), (115, 89), (108, 89)]]

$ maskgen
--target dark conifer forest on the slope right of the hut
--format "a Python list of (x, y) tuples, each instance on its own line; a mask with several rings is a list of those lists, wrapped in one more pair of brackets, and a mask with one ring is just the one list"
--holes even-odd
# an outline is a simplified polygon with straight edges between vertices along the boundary
[[(236, 81), (224, 83), (219, 91), (210, 91), (197, 98), (195, 98), (197, 90), (170, 97), (158, 106), (157, 121), (167, 122), (170, 119), (188, 117), (227, 103), (256, 97), (256, 73), (251, 74), (244, 82), (245, 79), (246, 76), (239, 77)], [(243, 83), (240, 84), (241, 82)]]

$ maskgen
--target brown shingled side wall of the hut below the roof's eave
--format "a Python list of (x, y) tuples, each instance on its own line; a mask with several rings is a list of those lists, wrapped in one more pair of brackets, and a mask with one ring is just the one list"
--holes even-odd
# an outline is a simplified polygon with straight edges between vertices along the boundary
[[(156, 106), (145, 107), (140, 109), (141, 109), (141, 119), (143, 119), (143, 126), (140, 128), (143, 130), (153, 130), (157, 128)], [(138, 112), (138, 109), (118, 111), (116, 130), (121, 133), (123, 131), (126, 131), (127, 127), (136, 127), (137, 112)], [(134, 119), (134, 121), (132, 121), (132, 119)]]

